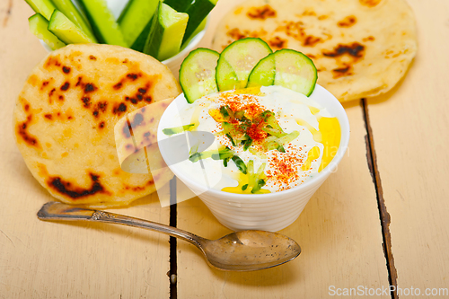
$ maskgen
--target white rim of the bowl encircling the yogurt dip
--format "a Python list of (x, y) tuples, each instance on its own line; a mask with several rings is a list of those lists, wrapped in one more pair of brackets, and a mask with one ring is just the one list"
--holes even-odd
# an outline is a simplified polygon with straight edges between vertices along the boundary
[[(318, 101), (322, 106), (325, 108), (332, 108), (331, 113), (339, 119), (339, 125), (341, 130), (341, 136), (340, 136), (340, 143), (339, 143), (339, 149), (337, 151), (337, 154), (335, 154), (334, 158), (330, 161), (330, 163), (321, 170), (318, 174), (314, 175), (313, 178), (310, 178), (309, 180), (304, 181), (304, 183), (295, 186), (291, 189), (286, 189), (278, 192), (271, 192), (271, 193), (265, 193), (265, 194), (239, 194), (239, 193), (231, 193), (231, 192), (225, 192), (218, 189), (208, 189), (206, 186), (203, 186), (199, 184), (195, 180), (190, 180), (189, 176), (183, 173), (183, 171), (180, 171), (177, 169), (176, 164), (168, 166), (170, 170), (178, 177), (182, 182), (184, 182), (190, 189), (190, 186), (192, 188), (199, 190), (200, 197), (202, 194), (207, 194), (209, 196), (213, 196), (214, 198), (219, 199), (225, 199), (227, 201), (253, 201), (253, 200), (269, 200), (272, 198), (279, 198), (279, 197), (285, 197), (290, 198), (292, 195), (301, 193), (303, 190), (310, 190), (313, 189), (313, 186), (320, 180), (325, 180), (330, 173), (336, 170), (338, 164), (343, 159), (343, 156), (346, 154), (346, 151), (348, 149), (349, 144), (349, 136), (350, 136), (350, 127), (349, 127), (349, 119), (348, 115), (346, 113), (346, 110), (343, 108), (339, 100), (331, 94), (328, 90), (326, 90), (324, 87), (322, 87), (319, 84), (316, 84), (315, 89), (313, 90), (313, 93), (309, 97), (313, 97), (313, 94), (317, 93), (324, 93), (324, 97), (321, 95), (320, 100), (315, 99), (315, 101)], [(315, 94), (315, 96), (318, 96)], [(325, 99), (325, 100), (323, 100)], [(322, 103), (322, 101), (326, 101), (325, 104)], [(185, 100), (184, 94), (180, 93), (178, 97), (172, 103), (167, 107), (167, 109), (163, 112), (163, 116), (161, 117), (161, 121), (159, 122), (159, 126), (157, 129), (157, 139), (158, 141), (159, 136), (163, 136), (162, 134), (162, 124), (163, 124), (163, 118), (166, 116), (166, 111), (169, 110), (169, 108), (173, 105), (176, 105), (176, 103), (180, 103), (181, 105), (188, 105), (189, 103)], [(163, 156), (163, 150), (160, 149), (161, 155)], [(164, 159), (164, 158), (163, 158)], [(164, 159), (165, 160), (165, 159)], [(194, 192), (197, 194), (197, 192)]]

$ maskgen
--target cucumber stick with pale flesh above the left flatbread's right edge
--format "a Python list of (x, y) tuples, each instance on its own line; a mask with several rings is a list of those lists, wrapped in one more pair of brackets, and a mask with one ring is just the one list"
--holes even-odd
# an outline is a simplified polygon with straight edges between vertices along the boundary
[(160, 3), (144, 53), (160, 61), (178, 54), (188, 21), (189, 14), (178, 13), (169, 5)]

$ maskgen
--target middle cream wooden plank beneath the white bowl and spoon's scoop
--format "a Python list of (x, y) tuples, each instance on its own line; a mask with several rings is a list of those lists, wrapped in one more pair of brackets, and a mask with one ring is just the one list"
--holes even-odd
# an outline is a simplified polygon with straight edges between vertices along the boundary
[[(201, 46), (210, 46), (216, 22), (238, 2), (219, 2)], [(179, 241), (178, 298), (323, 298), (330, 295), (331, 286), (388, 288), (379, 212), (366, 161), (363, 110), (357, 102), (346, 108), (351, 123), (347, 156), (298, 220), (281, 231), (301, 244), (300, 257), (277, 268), (222, 272), (209, 268), (194, 246)], [(181, 229), (210, 239), (230, 233), (198, 198), (180, 203), (177, 212)]]

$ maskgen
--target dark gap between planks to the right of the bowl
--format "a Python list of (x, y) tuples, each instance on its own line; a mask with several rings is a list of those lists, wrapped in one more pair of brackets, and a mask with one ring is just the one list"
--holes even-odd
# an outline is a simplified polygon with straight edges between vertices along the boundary
[[(371, 176), (373, 178), (377, 198), (377, 207), (379, 208), (379, 216), (381, 219), (383, 254), (385, 255), (387, 263), (388, 281), (390, 283), (390, 286), (394, 286), (394, 290), (396, 290), (398, 289), (398, 272), (394, 267), (394, 258), (392, 255), (392, 234), (390, 233), (391, 217), (387, 211), (387, 207), (385, 206), (385, 199), (383, 198), (381, 175), (377, 167), (377, 156), (374, 149), (374, 136), (369, 119), (368, 103), (366, 99), (362, 99), (360, 104), (362, 106), (366, 128), (366, 159), (368, 162), (369, 171), (371, 172)], [(397, 292), (391, 291), (390, 295), (392, 295), (392, 299), (399, 298)]]

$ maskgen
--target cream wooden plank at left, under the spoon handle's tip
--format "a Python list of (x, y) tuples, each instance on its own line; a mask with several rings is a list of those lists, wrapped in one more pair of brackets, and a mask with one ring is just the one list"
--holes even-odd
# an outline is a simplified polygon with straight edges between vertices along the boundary
[[(168, 298), (167, 236), (36, 217), (53, 198), (14, 145), (12, 114), (28, 73), (47, 53), (28, 30), (28, 5), (11, 5), (0, 1), (0, 298)], [(161, 208), (155, 196), (113, 212), (164, 224), (170, 218), (170, 208)]]

